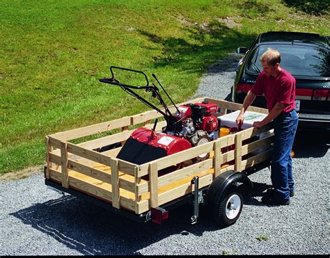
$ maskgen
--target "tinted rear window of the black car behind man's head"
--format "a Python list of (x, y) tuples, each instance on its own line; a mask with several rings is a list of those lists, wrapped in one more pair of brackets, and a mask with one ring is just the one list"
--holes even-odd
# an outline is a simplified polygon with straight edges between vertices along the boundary
[(260, 73), (262, 71), (260, 57), (269, 47), (277, 49), (281, 53), (281, 67), (294, 76), (330, 76), (329, 50), (301, 45), (257, 47), (247, 63), (249, 72)]

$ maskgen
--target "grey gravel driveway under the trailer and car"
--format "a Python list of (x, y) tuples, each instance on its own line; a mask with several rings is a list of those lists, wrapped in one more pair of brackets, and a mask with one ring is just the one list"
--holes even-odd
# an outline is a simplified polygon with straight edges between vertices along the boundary
[[(238, 56), (210, 67), (196, 96), (225, 99)], [(193, 207), (170, 213), (164, 225), (139, 224), (48, 189), (41, 173), (0, 184), (0, 255), (329, 255), (329, 135), (302, 131), (294, 142), (296, 195), (286, 207), (260, 199), (268, 168), (250, 175), (235, 225), (219, 229)]]

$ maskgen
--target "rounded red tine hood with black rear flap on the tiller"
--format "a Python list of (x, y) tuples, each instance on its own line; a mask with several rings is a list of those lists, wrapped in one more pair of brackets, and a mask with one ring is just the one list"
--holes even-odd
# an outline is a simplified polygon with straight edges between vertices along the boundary
[(141, 165), (187, 150), (190, 147), (191, 145), (186, 139), (155, 133), (151, 129), (141, 127), (129, 136), (117, 158)]

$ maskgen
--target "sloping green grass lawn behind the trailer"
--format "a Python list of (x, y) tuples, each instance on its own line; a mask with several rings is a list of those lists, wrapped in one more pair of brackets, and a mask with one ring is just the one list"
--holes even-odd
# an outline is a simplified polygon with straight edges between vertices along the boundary
[(98, 81), (111, 65), (155, 73), (182, 102), (260, 32), (329, 34), (329, 3), (299, 2), (0, 1), (0, 175), (44, 164), (48, 134), (148, 110)]

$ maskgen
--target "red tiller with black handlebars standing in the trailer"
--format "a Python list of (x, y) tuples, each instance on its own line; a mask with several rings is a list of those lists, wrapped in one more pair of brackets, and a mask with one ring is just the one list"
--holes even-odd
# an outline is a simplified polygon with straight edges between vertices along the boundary
[[(115, 78), (113, 70), (120, 70), (120, 72), (133, 72), (138, 75), (143, 75), (146, 79), (146, 86), (131, 86), (125, 83), (120, 83), (120, 81)], [(182, 150), (187, 150), (190, 147), (208, 143), (211, 140), (218, 138), (219, 122), (217, 117), (214, 116), (214, 113), (218, 111), (217, 104), (201, 102), (184, 104), (177, 107), (163, 88), (162, 84), (159, 83), (155, 74), (152, 74), (158, 85), (164, 90), (166, 96), (176, 108), (175, 114), (172, 114), (160, 95), (159, 88), (157, 88), (154, 83), (152, 83), (152, 85), (149, 84), (148, 77), (144, 72), (116, 66), (111, 66), (110, 71), (112, 77), (100, 79), (102, 83), (110, 83), (119, 86), (125, 90), (125, 92), (133, 95), (136, 99), (139, 99), (150, 108), (161, 113), (166, 120), (166, 127), (163, 127), (162, 131), (155, 131), (157, 119), (155, 120), (153, 129), (141, 127), (133, 131), (118, 153), (118, 159), (141, 165), (155, 159), (160, 159), (164, 156), (181, 152)], [(159, 100), (164, 111), (148, 102), (134, 90), (146, 90), (146, 92), (151, 92), (151, 96)], [(207, 159), (209, 155), (210, 154), (207, 153), (197, 156), (193, 162), (203, 161)]]

